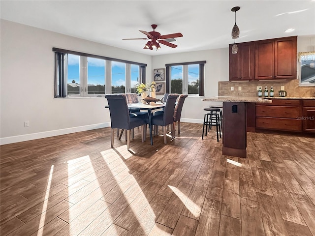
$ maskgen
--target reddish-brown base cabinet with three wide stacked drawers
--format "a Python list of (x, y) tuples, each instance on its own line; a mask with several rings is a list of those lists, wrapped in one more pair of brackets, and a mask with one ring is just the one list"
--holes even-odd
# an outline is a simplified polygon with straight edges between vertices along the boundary
[(256, 103), (256, 129), (302, 132), (302, 101), (271, 99), (272, 103)]

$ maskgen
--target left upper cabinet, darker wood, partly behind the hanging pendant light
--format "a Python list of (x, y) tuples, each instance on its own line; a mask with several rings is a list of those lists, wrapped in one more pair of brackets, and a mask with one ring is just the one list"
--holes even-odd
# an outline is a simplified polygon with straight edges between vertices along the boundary
[(237, 54), (232, 54), (232, 46), (233, 44), (230, 44), (229, 80), (252, 80), (254, 76), (254, 43), (237, 44)]

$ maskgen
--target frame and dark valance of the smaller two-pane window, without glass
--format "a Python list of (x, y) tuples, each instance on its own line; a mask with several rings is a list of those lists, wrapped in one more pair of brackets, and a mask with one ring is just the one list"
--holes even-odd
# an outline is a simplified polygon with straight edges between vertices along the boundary
[[(204, 67), (207, 61), (191, 61), (183, 63), (171, 63), (165, 64), (166, 67), (166, 91), (167, 93), (171, 92), (171, 66), (182, 65), (183, 66), (183, 94), (188, 94), (194, 96), (194, 94), (188, 93), (188, 65), (199, 64), (199, 94), (196, 96), (204, 96)], [(185, 69), (184, 69), (185, 68)], [(187, 75), (184, 75), (184, 72), (187, 72)]]

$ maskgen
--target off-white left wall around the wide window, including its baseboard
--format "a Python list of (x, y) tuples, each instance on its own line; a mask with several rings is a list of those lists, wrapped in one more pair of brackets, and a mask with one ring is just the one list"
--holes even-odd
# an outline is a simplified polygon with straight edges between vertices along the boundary
[(54, 98), (53, 47), (146, 63), (153, 76), (151, 56), (5, 20), (0, 42), (1, 145), (109, 125), (104, 97)]

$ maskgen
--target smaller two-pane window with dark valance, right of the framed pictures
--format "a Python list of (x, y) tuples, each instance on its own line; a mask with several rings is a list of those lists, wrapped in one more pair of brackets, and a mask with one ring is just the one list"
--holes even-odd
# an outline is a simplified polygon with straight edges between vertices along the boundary
[(203, 96), (204, 64), (206, 61), (166, 64), (166, 90)]

